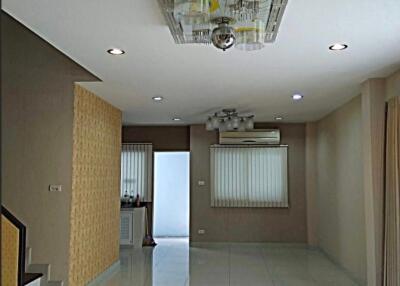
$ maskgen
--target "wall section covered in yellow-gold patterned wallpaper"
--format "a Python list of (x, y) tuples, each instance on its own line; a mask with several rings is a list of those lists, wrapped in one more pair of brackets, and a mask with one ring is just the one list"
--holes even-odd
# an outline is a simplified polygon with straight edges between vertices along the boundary
[(121, 111), (75, 85), (69, 285), (119, 258)]

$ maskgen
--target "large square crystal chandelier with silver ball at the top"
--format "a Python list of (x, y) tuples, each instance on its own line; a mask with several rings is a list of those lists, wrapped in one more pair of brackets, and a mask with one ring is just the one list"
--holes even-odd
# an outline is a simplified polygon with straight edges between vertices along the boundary
[(287, 0), (158, 0), (177, 44), (252, 51), (275, 41)]

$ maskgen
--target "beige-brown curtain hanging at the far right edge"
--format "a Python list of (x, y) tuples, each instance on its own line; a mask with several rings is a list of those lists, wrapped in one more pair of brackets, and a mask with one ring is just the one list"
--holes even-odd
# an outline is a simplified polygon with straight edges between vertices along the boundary
[(388, 102), (384, 286), (400, 285), (400, 97)]

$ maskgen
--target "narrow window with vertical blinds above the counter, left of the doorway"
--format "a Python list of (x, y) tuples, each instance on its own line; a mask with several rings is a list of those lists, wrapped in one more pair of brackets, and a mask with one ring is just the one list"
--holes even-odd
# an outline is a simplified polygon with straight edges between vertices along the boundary
[(152, 144), (122, 144), (121, 197), (125, 193), (140, 200), (152, 201)]

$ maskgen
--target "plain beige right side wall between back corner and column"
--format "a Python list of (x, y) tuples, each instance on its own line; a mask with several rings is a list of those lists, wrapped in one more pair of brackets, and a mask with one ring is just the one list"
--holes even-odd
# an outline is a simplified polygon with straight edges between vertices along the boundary
[(316, 137), (319, 246), (365, 283), (361, 97), (321, 119)]

